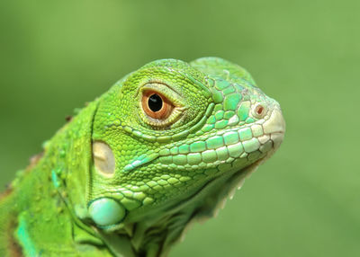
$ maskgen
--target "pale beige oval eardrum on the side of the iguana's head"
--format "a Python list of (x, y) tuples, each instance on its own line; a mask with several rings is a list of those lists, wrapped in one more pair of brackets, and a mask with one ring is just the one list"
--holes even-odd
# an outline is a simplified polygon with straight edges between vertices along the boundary
[(99, 173), (109, 176), (115, 172), (115, 157), (112, 148), (106, 143), (101, 141), (93, 143), (93, 157), (94, 165)]

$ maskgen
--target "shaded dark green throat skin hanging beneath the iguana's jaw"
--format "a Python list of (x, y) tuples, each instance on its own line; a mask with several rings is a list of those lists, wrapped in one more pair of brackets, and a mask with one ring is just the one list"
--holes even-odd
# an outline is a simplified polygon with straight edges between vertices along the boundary
[[(201, 190), (187, 195), (181, 202), (174, 201), (159, 207), (156, 215), (147, 213), (139, 221), (129, 223), (121, 230), (105, 233), (96, 229), (96, 232), (116, 256), (166, 256), (170, 247), (181, 239), (193, 221), (216, 216), (226, 199), (242, 185), (249, 173), (257, 169), (258, 164), (213, 178)], [(119, 247), (126, 245), (124, 242), (131, 245), (125, 252)], [(117, 249), (119, 252), (116, 252)]]

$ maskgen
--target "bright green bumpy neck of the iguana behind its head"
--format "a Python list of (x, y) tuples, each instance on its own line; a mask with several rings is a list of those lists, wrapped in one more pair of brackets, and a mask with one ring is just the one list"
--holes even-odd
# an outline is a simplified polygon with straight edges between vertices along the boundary
[[(62, 245), (58, 253), (65, 255), (77, 253), (76, 245), (80, 244), (85, 245), (85, 248), (80, 246), (80, 252), (86, 254), (99, 253), (97, 246), (103, 246), (91, 229), (76, 222), (76, 211), (86, 209), (91, 125), (96, 106), (96, 101), (89, 104), (61, 128), (45, 144), (43, 155), (18, 174), (11, 184), (12, 191), (2, 199), (0, 212), (7, 211), (8, 220), (15, 217), (13, 231), (9, 233), (25, 255), (32, 256), (41, 249), (51, 251), (52, 245), (58, 244)], [(104, 254), (110, 254), (103, 249)]]

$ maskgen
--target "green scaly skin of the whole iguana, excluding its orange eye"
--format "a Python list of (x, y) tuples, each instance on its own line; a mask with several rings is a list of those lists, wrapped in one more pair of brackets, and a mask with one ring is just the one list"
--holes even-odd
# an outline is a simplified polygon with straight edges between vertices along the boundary
[[(172, 103), (168, 118), (146, 114), (147, 90)], [(79, 111), (18, 173), (0, 199), (0, 256), (166, 256), (283, 137), (279, 104), (240, 66), (151, 62)]]

